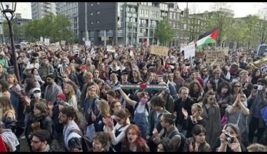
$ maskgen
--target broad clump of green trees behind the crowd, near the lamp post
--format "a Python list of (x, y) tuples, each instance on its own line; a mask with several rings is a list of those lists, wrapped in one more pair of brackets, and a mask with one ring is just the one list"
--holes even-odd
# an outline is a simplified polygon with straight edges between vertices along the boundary
[(33, 20), (22, 25), (22, 33), (27, 41), (39, 41), (40, 37), (50, 38), (50, 42), (61, 40), (67, 43), (77, 41), (71, 30), (71, 22), (65, 15), (50, 13), (40, 20)]

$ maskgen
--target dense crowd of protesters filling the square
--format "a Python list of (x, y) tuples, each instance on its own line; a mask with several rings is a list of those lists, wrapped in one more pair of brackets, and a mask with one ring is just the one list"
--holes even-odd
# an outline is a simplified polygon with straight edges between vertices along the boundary
[(132, 45), (16, 53), (20, 80), (11, 46), (0, 45), (1, 151), (267, 151), (267, 76), (253, 50), (229, 50), (224, 64), (184, 59), (176, 47), (167, 56)]

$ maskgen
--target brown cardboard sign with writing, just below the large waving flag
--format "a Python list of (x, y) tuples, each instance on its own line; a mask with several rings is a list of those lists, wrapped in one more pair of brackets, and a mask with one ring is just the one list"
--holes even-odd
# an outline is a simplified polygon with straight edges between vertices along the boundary
[(211, 64), (216, 59), (216, 64), (223, 65), (225, 63), (223, 50), (206, 50), (206, 63)]

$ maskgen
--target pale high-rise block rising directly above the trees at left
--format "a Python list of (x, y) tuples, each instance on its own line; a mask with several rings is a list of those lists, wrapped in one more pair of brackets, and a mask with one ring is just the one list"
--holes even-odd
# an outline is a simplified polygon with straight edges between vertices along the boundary
[(53, 13), (56, 15), (55, 2), (32, 2), (32, 20), (44, 18), (46, 14)]

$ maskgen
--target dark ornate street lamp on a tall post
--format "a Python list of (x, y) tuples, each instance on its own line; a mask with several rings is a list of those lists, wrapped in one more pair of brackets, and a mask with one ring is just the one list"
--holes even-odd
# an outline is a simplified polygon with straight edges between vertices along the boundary
[[(4, 7), (6, 6), (6, 7)], [(1, 2), (0, 10), (3, 13), (4, 18), (8, 21), (8, 27), (9, 27), (9, 35), (11, 36), (11, 48), (12, 48), (12, 55), (13, 55), (13, 65), (15, 69), (15, 76), (18, 80), (20, 80), (20, 73), (18, 71), (18, 62), (17, 62), (17, 55), (15, 52), (15, 41), (14, 41), (14, 31), (12, 26), (12, 20), (15, 17), (15, 8), (17, 6), (17, 2), (12, 2), (12, 7), (9, 8), (9, 3), (5, 3), (3, 6), (3, 3)], [(8, 15), (8, 13), (11, 15)]]

